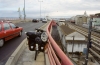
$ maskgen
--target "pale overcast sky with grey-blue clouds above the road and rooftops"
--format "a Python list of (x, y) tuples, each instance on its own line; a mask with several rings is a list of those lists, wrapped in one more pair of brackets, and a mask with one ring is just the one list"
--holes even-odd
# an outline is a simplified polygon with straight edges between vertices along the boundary
[[(42, 2), (43, 1), (43, 2)], [(100, 0), (25, 0), (26, 17), (72, 17), (100, 12)], [(0, 0), (0, 17), (23, 17), (24, 0)]]

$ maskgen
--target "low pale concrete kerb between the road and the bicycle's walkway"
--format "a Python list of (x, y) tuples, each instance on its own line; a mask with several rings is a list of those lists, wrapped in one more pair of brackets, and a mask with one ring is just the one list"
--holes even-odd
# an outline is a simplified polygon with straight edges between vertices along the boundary
[(23, 50), (26, 48), (27, 39), (24, 39), (22, 43), (17, 47), (14, 53), (9, 57), (5, 65), (16, 65), (18, 58), (20, 57)]

